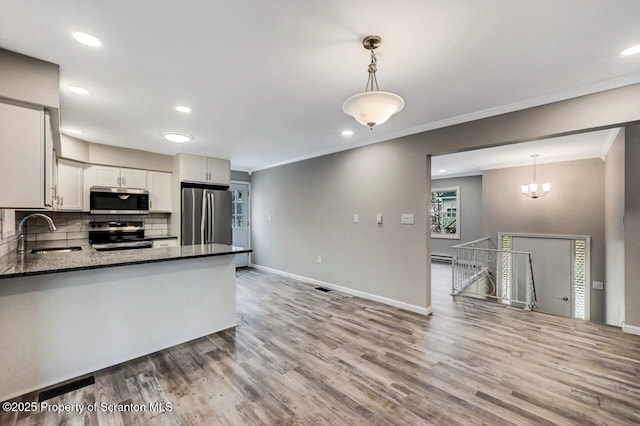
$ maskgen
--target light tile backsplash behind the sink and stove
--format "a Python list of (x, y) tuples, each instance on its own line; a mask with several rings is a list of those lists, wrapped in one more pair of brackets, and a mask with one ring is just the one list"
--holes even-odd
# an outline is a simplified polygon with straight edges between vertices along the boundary
[[(33, 212), (16, 212), (16, 227), (18, 222), (30, 213)], [(50, 216), (58, 229), (55, 232), (51, 232), (49, 231), (47, 222), (44, 219), (30, 219), (25, 227), (27, 242), (35, 242), (36, 247), (37, 243), (42, 241), (87, 239), (89, 238), (89, 224), (91, 222), (104, 222), (110, 220), (143, 221), (145, 225), (144, 232), (147, 237), (169, 235), (168, 213), (152, 213), (144, 216), (90, 215), (88, 213), (74, 212), (42, 213)]]

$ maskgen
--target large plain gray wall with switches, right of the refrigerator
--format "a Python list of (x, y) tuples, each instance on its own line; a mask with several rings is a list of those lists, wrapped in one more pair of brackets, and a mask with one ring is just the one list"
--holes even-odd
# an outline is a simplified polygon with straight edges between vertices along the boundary
[(252, 263), (428, 306), (426, 156), (415, 152), (382, 143), (254, 173)]

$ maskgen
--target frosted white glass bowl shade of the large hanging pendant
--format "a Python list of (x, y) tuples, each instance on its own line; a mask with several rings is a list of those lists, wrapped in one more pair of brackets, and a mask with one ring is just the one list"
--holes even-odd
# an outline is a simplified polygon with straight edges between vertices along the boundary
[(364, 126), (377, 126), (404, 108), (404, 99), (395, 93), (362, 92), (351, 96), (342, 104), (342, 110)]

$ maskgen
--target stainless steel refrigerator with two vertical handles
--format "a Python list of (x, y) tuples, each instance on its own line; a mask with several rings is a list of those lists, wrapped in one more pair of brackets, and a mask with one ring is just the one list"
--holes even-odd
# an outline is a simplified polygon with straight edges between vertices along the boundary
[(231, 192), (182, 188), (182, 245), (231, 244)]

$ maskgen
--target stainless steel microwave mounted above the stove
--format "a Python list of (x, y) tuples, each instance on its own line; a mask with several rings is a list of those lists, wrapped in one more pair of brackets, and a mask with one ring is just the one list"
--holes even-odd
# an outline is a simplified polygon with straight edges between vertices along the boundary
[(89, 212), (91, 214), (149, 214), (149, 191), (91, 187)]

